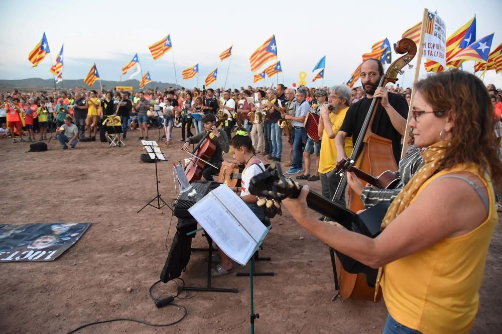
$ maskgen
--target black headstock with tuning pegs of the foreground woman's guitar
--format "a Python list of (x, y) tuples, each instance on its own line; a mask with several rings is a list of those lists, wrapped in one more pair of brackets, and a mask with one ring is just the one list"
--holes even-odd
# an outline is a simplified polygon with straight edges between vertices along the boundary
[(265, 172), (251, 178), (248, 189), (255, 196), (281, 201), (298, 197), (302, 187), (290, 177), (285, 177), (281, 165), (273, 162)]

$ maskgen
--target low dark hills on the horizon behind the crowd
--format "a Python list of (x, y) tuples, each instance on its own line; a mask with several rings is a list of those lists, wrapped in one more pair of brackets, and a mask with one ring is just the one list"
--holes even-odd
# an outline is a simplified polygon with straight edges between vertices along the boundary
[[(103, 84), (103, 90), (112, 89), (116, 86), (132, 86), (134, 90), (140, 89), (140, 82), (136, 79), (126, 80), (126, 81), (108, 81), (101, 80)], [(57, 90), (61, 90), (62, 88), (75, 90), (77, 87), (85, 87), (89, 89), (89, 86), (84, 84), (84, 80), (64, 80), (62, 83), (56, 85)], [(145, 88), (158, 87), (160, 90), (164, 90), (169, 87), (176, 87), (176, 84), (171, 83), (163, 83), (159, 81), (152, 81)], [(178, 85), (178, 87), (181, 87)], [(29, 79), (21, 79), (21, 80), (0, 80), (0, 92), (6, 92), (10, 90), (18, 89), (20, 91), (50, 91), (54, 90), (54, 80), (52, 79), (41, 79), (41, 78), (29, 78)], [(97, 80), (94, 85), (92, 85), (92, 89), (99, 90), (99, 80)]]

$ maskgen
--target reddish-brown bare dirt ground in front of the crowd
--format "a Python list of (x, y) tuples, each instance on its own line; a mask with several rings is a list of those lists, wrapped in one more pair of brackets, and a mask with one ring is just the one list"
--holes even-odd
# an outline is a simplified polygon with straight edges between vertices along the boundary
[[(153, 323), (178, 319), (175, 306), (155, 307), (149, 287), (159, 279), (177, 219), (171, 210), (148, 207), (156, 195), (154, 164), (139, 163), (138, 132), (129, 133), (127, 146), (79, 143), (61, 150), (56, 140), (47, 152), (29, 152), (28, 143), (0, 140), (2, 161), (1, 223), (91, 222), (82, 238), (53, 262), (0, 264), (0, 332), (64, 333), (88, 322), (136, 318)], [(159, 164), (160, 193), (176, 197), (172, 161), (187, 157), (175, 129), (167, 148), (167, 163)], [(157, 129), (150, 132), (158, 138)], [(289, 148), (284, 138), (283, 168)], [(320, 191), (320, 182), (309, 182)], [(313, 213), (318, 216), (318, 214)], [(274, 276), (255, 277), (257, 332), (381, 333), (387, 312), (383, 302), (331, 301), (334, 284), (326, 245), (296, 224), (288, 212), (272, 221), (258, 271)], [(201, 233), (193, 246), (207, 243)], [(187, 284), (205, 284), (207, 261), (193, 252)], [(248, 267), (240, 268), (247, 271)], [(502, 228), (497, 224), (489, 248), (481, 308), (472, 332), (502, 332)], [(234, 274), (213, 280), (215, 287), (236, 287), (238, 293), (201, 292), (176, 299), (188, 313), (177, 325), (151, 327), (133, 322), (93, 325), (82, 333), (109, 332), (246, 332), (249, 330), (249, 279)], [(131, 288), (131, 289), (129, 289)], [(172, 282), (154, 290), (174, 293)], [(130, 292), (129, 292), (130, 291)], [(193, 293), (191, 294), (193, 295)]]

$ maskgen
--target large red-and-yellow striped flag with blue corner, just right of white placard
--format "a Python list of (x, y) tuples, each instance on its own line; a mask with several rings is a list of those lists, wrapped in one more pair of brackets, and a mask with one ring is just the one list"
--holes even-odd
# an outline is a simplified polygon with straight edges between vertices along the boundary
[[(451, 62), (453, 56), (455, 56), (460, 50), (466, 48), (470, 44), (474, 43), (476, 40), (476, 17), (474, 16), (469, 22), (457, 29), (448, 39), (446, 40), (446, 66), (447, 67), (458, 67), (461, 63), (456, 64)], [(427, 72), (442, 72), (444, 70), (443, 66), (434, 61), (427, 61), (425, 64), (425, 70)]]

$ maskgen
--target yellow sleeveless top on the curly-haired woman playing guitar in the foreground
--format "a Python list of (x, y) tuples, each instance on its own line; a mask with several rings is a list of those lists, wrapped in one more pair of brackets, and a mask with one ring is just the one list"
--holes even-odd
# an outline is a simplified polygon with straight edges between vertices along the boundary
[(384, 266), (384, 300), (396, 321), (424, 333), (468, 332), (479, 307), (486, 253), (498, 220), (490, 177), (474, 165), (458, 165), (427, 180), (420, 194), (442, 175), (471, 172), (486, 187), (487, 219), (472, 231)]

